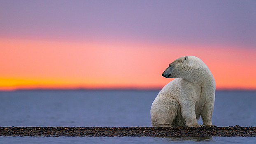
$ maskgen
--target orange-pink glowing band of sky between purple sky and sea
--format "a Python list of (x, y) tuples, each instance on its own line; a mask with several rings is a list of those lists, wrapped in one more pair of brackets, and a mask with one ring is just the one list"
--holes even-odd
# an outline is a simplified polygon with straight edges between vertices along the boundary
[(256, 89), (256, 50), (0, 39), (0, 90), (17, 88), (161, 88), (173, 60), (197, 56), (216, 88)]

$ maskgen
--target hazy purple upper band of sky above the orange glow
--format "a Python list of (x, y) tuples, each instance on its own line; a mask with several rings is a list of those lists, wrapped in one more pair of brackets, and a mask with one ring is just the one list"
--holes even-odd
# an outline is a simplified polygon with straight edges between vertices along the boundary
[(256, 0), (0, 0), (0, 37), (256, 48)]

